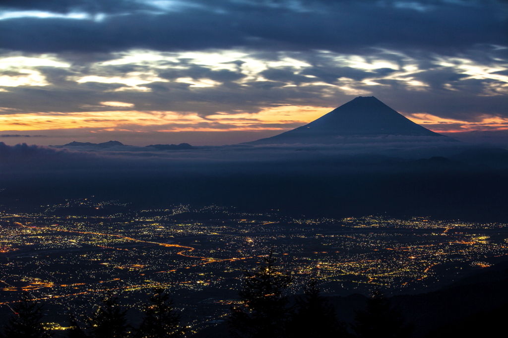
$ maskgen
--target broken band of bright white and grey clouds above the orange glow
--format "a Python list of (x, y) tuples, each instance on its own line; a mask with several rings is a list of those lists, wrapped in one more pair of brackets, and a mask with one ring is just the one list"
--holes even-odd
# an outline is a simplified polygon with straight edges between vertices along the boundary
[[(280, 104), (336, 107), (374, 95), (402, 113), (455, 119), (463, 114), (470, 120), (506, 114), (508, 76), (500, 70), (508, 61), (499, 53), (487, 46), (455, 57), (390, 50), (368, 55), (133, 50), (77, 64), (46, 55), (13, 63), (5, 75), (16, 83), (31, 72), (41, 83), (4, 86), (0, 97), (4, 109), (24, 112), (118, 110), (102, 103), (121, 102), (140, 111), (206, 116), (255, 113)], [(46, 65), (49, 61), (54, 65)]]

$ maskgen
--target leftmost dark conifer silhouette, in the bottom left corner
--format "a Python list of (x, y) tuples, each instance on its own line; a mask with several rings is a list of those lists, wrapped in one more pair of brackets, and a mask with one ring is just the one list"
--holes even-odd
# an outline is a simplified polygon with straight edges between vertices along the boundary
[(23, 293), (16, 303), (11, 316), (4, 327), (3, 338), (49, 338), (50, 331), (41, 324), (43, 306), (30, 300), (28, 292)]

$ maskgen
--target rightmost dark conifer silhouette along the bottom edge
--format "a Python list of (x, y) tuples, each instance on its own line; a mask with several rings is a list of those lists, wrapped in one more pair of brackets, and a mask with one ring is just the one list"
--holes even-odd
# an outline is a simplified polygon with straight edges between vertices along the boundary
[(356, 313), (353, 328), (361, 338), (407, 338), (412, 331), (401, 314), (390, 306), (388, 299), (379, 291), (372, 292), (365, 311)]

